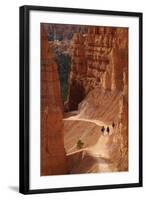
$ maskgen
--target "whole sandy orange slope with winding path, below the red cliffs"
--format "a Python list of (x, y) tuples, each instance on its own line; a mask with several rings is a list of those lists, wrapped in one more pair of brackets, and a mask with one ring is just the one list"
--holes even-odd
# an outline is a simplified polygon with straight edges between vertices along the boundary
[[(68, 114), (64, 118), (65, 148), (71, 173), (125, 170), (119, 166), (121, 134), (118, 113), (121, 99), (121, 93), (95, 88), (80, 103), (77, 115)], [(84, 143), (82, 150), (77, 148), (79, 139)]]

